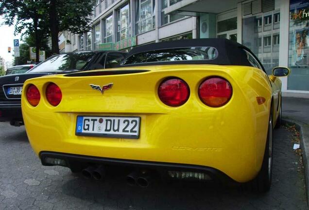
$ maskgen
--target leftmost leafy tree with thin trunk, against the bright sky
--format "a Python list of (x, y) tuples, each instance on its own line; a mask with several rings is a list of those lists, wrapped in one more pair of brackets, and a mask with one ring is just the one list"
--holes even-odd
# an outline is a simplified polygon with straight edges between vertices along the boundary
[[(34, 33), (36, 62), (39, 61), (40, 40), (49, 32), (49, 25), (44, 14), (45, 0), (1, 0), (0, 15), (4, 24), (15, 25), (15, 34)], [(25, 32), (24, 32), (25, 31)]]

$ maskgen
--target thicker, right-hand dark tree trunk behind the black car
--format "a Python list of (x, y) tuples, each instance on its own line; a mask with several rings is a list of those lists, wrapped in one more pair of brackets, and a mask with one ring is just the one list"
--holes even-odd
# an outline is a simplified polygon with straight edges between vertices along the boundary
[(59, 54), (58, 44), (58, 20), (56, 14), (56, 0), (50, 0), (50, 29), (51, 29), (51, 53)]

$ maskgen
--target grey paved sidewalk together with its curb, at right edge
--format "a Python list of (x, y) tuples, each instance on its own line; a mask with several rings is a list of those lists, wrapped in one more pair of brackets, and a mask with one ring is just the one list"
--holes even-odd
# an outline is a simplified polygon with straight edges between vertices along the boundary
[(300, 134), (300, 148), (302, 149), (304, 174), (309, 202), (309, 99), (282, 98), (283, 121), (294, 123)]

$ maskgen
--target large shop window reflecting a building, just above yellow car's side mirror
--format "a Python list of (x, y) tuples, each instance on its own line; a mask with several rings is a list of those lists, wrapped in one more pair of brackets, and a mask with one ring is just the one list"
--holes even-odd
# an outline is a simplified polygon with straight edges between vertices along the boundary
[(257, 56), (269, 75), (279, 66), (279, 21), (278, 11), (242, 20), (242, 44)]

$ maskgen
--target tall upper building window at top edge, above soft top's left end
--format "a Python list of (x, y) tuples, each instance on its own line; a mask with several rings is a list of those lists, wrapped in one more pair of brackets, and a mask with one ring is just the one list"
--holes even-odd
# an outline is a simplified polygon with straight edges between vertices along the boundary
[(136, 1), (136, 34), (150, 31), (155, 27), (154, 0)]

